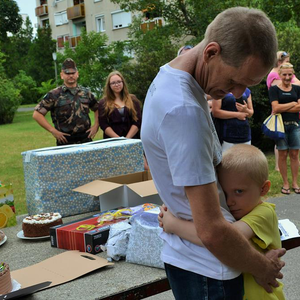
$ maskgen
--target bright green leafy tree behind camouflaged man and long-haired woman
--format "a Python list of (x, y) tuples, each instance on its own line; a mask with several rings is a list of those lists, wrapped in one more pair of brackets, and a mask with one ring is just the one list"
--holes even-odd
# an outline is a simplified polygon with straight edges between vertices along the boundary
[(59, 62), (70, 57), (76, 62), (79, 70), (80, 84), (91, 88), (99, 97), (103, 93), (108, 74), (119, 69), (128, 61), (123, 54), (124, 44), (122, 42), (108, 44), (108, 37), (100, 32), (81, 32), (81, 41), (77, 47), (72, 49), (66, 43), (63, 56), (59, 55)]

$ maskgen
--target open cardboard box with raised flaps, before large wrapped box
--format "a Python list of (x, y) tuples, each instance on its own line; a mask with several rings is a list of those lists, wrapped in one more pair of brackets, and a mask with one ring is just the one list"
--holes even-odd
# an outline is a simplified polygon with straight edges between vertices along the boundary
[(132, 207), (146, 202), (163, 204), (149, 171), (94, 180), (74, 191), (94, 196), (99, 200), (100, 211)]

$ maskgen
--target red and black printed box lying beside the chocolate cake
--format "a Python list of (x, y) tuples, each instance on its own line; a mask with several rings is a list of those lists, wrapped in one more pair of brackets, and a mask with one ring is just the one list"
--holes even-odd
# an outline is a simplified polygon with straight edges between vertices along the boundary
[(124, 221), (124, 219), (117, 219), (99, 225), (97, 222), (99, 216), (100, 214), (51, 227), (51, 246), (92, 254), (101, 252), (100, 245), (106, 243), (110, 225)]

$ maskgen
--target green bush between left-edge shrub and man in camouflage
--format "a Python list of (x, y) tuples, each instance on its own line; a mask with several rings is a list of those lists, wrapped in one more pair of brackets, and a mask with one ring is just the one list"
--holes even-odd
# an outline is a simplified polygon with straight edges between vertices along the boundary
[(39, 95), (35, 90), (36, 82), (31, 76), (26, 75), (25, 71), (20, 70), (13, 82), (15, 87), (20, 90), (21, 104), (36, 103)]

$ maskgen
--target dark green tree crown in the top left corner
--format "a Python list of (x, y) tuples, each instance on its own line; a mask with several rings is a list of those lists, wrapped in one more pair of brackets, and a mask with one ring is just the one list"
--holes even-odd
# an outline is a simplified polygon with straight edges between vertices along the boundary
[(22, 26), (19, 7), (14, 0), (0, 1), (0, 40), (5, 41), (7, 32), (17, 33)]

